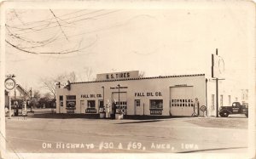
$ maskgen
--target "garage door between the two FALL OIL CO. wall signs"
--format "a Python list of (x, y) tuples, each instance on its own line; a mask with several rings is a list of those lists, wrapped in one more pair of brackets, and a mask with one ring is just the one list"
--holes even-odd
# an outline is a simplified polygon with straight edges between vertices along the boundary
[[(122, 111), (122, 113), (127, 114), (127, 94), (126, 92), (113, 92), (112, 99), (116, 102), (116, 113)], [(119, 101), (120, 100), (120, 101)]]

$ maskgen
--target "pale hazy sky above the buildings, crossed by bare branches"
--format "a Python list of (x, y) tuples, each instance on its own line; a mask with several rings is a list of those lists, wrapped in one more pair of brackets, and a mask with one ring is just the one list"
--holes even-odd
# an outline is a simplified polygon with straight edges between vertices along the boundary
[[(25, 88), (42, 78), (76, 72), (86, 80), (113, 71), (143, 71), (145, 77), (211, 76), (211, 54), (223, 57), (225, 82), (247, 88), (250, 7), (164, 9), (7, 9), (6, 74)], [(36, 53), (27, 53), (24, 50)], [(78, 50), (78, 51), (74, 51)], [(52, 54), (65, 53), (69, 54)], [(51, 54), (41, 54), (51, 53)]]

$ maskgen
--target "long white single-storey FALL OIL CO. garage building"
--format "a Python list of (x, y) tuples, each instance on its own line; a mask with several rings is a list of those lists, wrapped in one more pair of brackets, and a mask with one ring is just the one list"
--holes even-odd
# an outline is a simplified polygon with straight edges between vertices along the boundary
[[(202, 115), (205, 105), (207, 116), (216, 116), (216, 82), (209, 79), (205, 74), (139, 77), (139, 71), (98, 74), (96, 81), (57, 86), (56, 112), (99, 114), (110, 103), (116, 104), (116, 113), (131, 117), (192, 116)], [(241, 90), (224, 88), (222, 82), (218, 87), (219, 107), (241, 102)]]

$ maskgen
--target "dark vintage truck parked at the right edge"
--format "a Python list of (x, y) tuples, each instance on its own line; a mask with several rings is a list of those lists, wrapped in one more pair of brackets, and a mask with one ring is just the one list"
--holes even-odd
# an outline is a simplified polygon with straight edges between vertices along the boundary
[(240, 104), (240, 102), (233, 102), (231, 106), (221, 106), (218, 111), (219, 116), (227, 117), (230, 114), (244, 114), (248, 117), (248, 104)]

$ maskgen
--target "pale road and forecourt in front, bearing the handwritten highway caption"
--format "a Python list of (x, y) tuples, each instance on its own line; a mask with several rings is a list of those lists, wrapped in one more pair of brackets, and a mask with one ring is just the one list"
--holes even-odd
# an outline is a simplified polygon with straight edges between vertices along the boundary
[(247, 118), (159, 120), (12, 117), (7, 149), (18, 153), (246, 152)]

